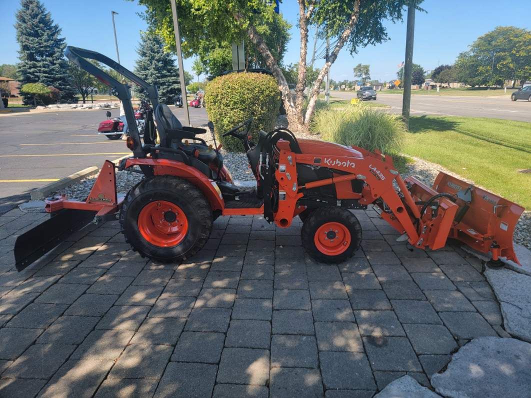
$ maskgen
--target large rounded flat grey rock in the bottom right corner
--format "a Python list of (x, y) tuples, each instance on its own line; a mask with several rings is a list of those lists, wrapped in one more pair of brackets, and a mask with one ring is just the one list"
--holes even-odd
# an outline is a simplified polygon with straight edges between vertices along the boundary
[(466, 344), (442, 374), (431, 378), (435, 391), (451, 398), (520, 398), (531, 391), (531, 344), (482, 337)]

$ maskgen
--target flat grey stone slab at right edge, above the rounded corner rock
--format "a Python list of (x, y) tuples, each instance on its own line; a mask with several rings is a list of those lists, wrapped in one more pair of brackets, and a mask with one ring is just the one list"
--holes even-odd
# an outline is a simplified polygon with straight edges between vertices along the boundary
[(505, 330), (531, 342), (531, 276), (503, 268), (485, 275), (500, 301)]

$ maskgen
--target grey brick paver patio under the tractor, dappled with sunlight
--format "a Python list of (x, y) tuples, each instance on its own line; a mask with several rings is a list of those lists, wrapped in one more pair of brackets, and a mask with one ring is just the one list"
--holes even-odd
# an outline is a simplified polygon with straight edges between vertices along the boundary
[(89, 226), (20, 273), (14, 239), (42, 215), (1, 215), (0, 396), (371, 397), (506, 335), (476, 258), (411, 251), (354, 213), (365, 240), (337, 265), (307, 256), (298, 219), (255, 216), (218, 218), (178, 264), (132, 252), (117, 222)]

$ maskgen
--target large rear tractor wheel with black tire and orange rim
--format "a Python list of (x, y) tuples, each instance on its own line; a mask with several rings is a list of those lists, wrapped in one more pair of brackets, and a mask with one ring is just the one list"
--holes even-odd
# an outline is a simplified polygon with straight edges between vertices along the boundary
[(212, 210), (190, 181), (156, 176), (127, 194), (120, 225), (133, 250), (153, 260), (174, 262), (193, 256), (207, 243)]

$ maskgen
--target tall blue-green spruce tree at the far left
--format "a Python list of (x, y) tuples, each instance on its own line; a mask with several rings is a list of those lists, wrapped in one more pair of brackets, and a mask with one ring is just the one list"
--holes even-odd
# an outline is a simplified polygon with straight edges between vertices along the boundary
[(61, 28), (39, 0), (21, 0), (16, 13), (16, 40), (19, 42), (18, 64), (21, 84), (42, 83), (60, 92), (61, 101), (75, 98), (63, 51), (65, 39)]

